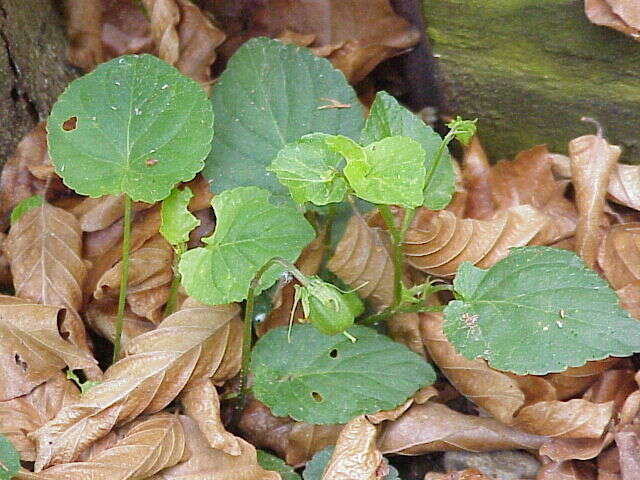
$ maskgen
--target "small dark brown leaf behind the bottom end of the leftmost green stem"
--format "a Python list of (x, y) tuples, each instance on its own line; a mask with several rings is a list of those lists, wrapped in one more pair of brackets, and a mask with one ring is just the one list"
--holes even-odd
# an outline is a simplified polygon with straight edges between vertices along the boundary
[[(85, 308), (84, 318), (91, 330), (113, 343), (117, 311), (118, 304), (115, 300), (109, 302), (92, 300)], [(138, 317), (130, 309), (126, 309), (122, 325), (122, 347), (124, 348), (132, 338), (154, 328), (155, 325), (149, 320)]]

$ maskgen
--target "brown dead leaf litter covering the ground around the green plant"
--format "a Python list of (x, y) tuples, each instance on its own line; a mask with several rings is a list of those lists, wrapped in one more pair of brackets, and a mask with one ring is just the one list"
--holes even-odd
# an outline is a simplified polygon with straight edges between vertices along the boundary
[[(200, 6), (68, 0), (69, 60), (88, 71), (118, 55), (149, 52), (208, 89), (240, 44), (267, 35), (308, 46), (355, 83), (419, 40), (387, 0)], [(640, 31), (635, 2), (587, 0), (585, 8), (595, 23), (634, 36)], [(361, 10), (364, 17), (354, 14)], [(462, 262), (487, 268), (512, 247), (554, 246), (575, 251), (640, 320), (640, 166), (619, 164), (620, 148), (599, 127), (572, 140), (567, 151), (532, 146), (491, 164), (475, 137), (456, 162), (452, 203), (441, 211), (419, 208), (409, 226), (405, 284), (427, 276), (450, 281)], [(193, 247), (215, 221), (208, 183), (197, 176), (187, 185), (194, 192), (189, 209), (201, 221)], [(9, 225), (12, 209), (34, 194), (46, 202)], [(210, 307), (181, 291), (177, 311), (164, 315), (174, 252), (158, 233), (157, 204), (133, 207), (123, 352), (108, 366), (122, 208), (121, 197), (83, 198), (62, 184), (48, 158), (44, 123), (2, 170), (0, 285), (14, 295), (0, 296), (0, 434), (20, 454), (17, 478), (276, 480), (280, 475), (260, 466), (256, 449), (299, 468), (331, 445), (322, 480), (382, 479), (387, 461), (398, 456), (439, 461), (441, 452), (496, 450), (535, 458), (538, 480), (640, 478), (637, 359), (517, 376), (458, 354), (438, 313), (399, 313), (387, 321), (393, 339), (441, 373), (435, 388), (396, 409), (346, 425), (311, 425), (275, 417), (250, 398), (242, 412), (229, 414), (234, 403), (225, 394), (237, 389), (241, 308)], [(382, 311), (393, 300), (390, 239), (382, 225), (374, 214), (354, 213), (335, 248), (322, 232), (299, 268), (311, 275), (326, 265)], [(258, 336), (289, 321), (293, 296), (292, 283), (278, 286)], [(81, 394), (65, 370), (98, 383)], [(472, 465), (424, 476), (493, 478)]]

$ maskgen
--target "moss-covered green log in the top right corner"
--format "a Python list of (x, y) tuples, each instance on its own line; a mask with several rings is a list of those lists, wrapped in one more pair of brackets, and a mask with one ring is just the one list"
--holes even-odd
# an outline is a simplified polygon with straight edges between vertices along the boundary
[(640, 163), (640, 43), (589, 23), (582, 0), (423, 0), (444, 110), (478, 117), (493, 160), (593, 132)]

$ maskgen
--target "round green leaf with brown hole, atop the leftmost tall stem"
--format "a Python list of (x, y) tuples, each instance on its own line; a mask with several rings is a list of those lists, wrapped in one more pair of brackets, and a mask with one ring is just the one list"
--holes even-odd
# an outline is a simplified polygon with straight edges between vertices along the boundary
[(55, 171), (77, 193), (162, 200), (211, 149), (200, 86), (152, 55), (126, 55), (74, 80), (47, 122)]

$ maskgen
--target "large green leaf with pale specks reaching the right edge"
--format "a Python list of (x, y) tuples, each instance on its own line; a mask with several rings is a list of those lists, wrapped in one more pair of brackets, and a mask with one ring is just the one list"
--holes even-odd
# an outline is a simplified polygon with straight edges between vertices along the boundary
[(640, 322), (573, 252), (521, 247), (488, 270), (463, 263), (444, 333), (469, 359), (544, 375), (640, 352)]

